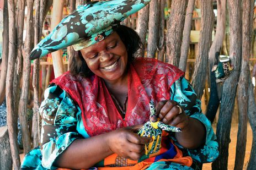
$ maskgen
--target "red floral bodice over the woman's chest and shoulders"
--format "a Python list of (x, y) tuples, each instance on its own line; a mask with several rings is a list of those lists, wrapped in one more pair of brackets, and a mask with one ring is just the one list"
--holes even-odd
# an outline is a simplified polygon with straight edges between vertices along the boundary
[(116, 109), (104, 80), (98, 76), (82, 78), (67, 72), (52, 81), (77, 103), (89, 136), (146, 123), (150, 118), (150, 101), (158, 103), (168, 100), (170, 86), (184, 74), (177, 67), (153, 58), (136, 58), (127, 67), (128, 98), (125, 119)]

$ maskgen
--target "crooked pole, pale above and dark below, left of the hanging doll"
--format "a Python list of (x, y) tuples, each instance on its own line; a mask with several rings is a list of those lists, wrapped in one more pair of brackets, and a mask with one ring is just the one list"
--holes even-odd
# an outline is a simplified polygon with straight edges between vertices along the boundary
[(226, 0), (217, 0), (217, 25), (214, 42), (212, 42), (209, 52), (209, 73), (210, 73), (210, 101), (207, 105), (206, 117), (214, 122), (220, 98), (218, 98), (217, 84), (215, 73), (211, 71), (212, 67), (218, 63), (218, 55), (220, 54), (223, 40), (225, 39), (226, 28)]

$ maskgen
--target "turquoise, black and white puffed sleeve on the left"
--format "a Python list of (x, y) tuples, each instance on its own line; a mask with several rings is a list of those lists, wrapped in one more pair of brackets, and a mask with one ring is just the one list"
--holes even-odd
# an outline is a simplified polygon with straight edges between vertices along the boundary
[(52, 163), (70, 144), (82, 136), (77, 132), (81, 110), (66, 91), (54, 84), (45, 90), (41, 103), (42, 117), (41, 153), (42, 166), (55, 169)]

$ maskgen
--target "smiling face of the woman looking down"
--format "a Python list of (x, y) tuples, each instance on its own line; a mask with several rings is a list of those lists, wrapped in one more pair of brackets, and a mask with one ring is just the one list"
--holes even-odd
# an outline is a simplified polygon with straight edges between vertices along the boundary
[(109, 83), (121, 80), (126, 75), (127, 51), (116, 32), (84, 48), (81, 53), (89, 69)]

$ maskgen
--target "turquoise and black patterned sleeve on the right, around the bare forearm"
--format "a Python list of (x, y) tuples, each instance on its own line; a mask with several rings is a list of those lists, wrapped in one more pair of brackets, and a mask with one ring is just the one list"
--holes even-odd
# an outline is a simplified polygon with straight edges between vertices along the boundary
[(192, 86), (185, 78), (182, 77), (175, 81), (175, 83), (171, 86), (170, 93), (172, 95), (170, 100), (178, 102), (188, 116), (198, 119), (200, 122), (202, 122), (202, 124), (205, 125), (206, 129), (205, 145), (199, 147), (198, 149), (184, 149), (174, 138), (174, 141), (176, 141), (175, 144), (177, 144), (180, 149), (186, 150), (188, 155), (191, 156), (194, 161), (201, 163), (214, 161), (219, 155), (218, 143), (216, 141), (217, 138), (214, 134), (214, 130), (211, 127), (211, 122), (204, 114), (202, 114), (201, 101), (196, 98), (196, 94)]

